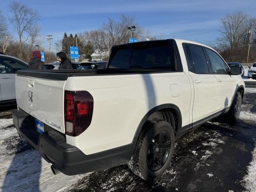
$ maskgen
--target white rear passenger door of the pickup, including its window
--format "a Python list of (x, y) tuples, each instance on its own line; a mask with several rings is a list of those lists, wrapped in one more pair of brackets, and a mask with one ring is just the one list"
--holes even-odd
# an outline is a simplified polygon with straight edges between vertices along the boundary
[(216, 112), (217, 81), (211, 73), (202, 46), (185, 44), (189, 75), (193, 80), (193, 124)]

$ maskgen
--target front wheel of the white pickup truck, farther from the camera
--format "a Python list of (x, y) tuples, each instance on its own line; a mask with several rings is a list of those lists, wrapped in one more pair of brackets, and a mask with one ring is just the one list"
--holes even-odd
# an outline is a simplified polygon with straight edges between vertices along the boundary
[(233, 124), (238, 120), (241, 112), (241, 107), (242, 107), (242, 95), (240, 92), (236, 92), (232, 106), (229, 112), (227, 113), (230, 123)]

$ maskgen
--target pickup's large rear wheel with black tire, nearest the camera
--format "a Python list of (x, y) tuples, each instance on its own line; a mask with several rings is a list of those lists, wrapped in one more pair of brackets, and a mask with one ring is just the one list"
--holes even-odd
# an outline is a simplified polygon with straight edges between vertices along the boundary
[(128, 167), (144, 180), (157, 178), (168, 168), (174, 144), (172, 126), (164, 120), (150, 118), (143, 126)]

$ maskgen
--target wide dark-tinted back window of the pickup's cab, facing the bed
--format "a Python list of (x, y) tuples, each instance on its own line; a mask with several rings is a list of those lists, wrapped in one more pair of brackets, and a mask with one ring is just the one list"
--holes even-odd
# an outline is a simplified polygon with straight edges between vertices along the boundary
[(175, 70), (177, 60), (167, 42), (117, 50), (109, 68)]

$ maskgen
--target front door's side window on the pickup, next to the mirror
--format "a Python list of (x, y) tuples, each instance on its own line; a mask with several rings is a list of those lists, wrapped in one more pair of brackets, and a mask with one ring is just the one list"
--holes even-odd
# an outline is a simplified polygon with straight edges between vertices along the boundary
[[(206, 48), (206, 52), (207, 52), (210, 62), (211, 62), (212, 72), (214, 74), (227, 74), (227, 69), (226, 69), (225, 63), (220, 58), (220, 56), (218, 56), (218, 54), (216, 54), (214, 51), (207, 49), (207, 48)], [(232, 66), (232, 65), (230, 65), (230, 66)], [(239, 65), (237, 64), (237, 66), (239, 66)]]

